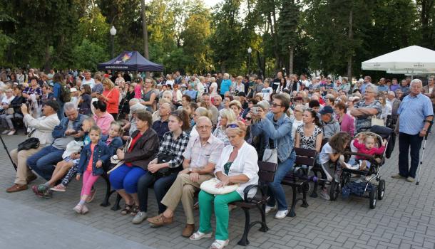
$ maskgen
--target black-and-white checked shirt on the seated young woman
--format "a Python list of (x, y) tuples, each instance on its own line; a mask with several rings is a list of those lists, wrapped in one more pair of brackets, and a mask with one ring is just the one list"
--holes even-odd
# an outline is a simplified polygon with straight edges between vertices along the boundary
[(185, 132), (181, 133), (180, 136), (178, 136), (177, 139), (175, 140), (173, 139), (172, 132), (166, 132), (163, 135), (162, 142), (160, 143), (160, 148), (158, 149), (157, 157), (160, 154), (172, 155), (174, 158), (168, 161), (169, 168), (176, 168), (178, 166), (181, 166), (184, 159), (183, 152), (188, 146), (188, 142), (189, 142), (189, 135)]

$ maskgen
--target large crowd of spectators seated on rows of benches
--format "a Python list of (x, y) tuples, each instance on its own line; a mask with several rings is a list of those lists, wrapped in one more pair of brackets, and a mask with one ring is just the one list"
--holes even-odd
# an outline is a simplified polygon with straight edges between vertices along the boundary
[[(210, 248), (228, 244), (228, 204), (245, 198), (243, 189), (257, 184), (257, 161), (270, 149), (277, 152), (278, 166), (268, 184), (265, 211), (275, 210), (281, 219), (289, 209), (281, 181), (293, 169), (295, 147), (324, 151), (320, 163), (335, 162), (343, 143), (369, 128), (372, 117), (394, 119), (409, 92), (407, 79), (398, 87), (396, 79), (374, 84), (369, 76), (351, 84), (347, 78), (332, 82), (329, 76), (309, 80), (282, 73), (265, 80), (227, 73), (198, 77), (176, 72), (136, 80), (128, 73), (92, 75), (89, 70), (2, 74), (7, 79), (0, 82), (2, 133), (16, 134), (14, 120), (21, 120), (29, 137), (40, 141), (39, 147), (11, 151), (18, 167), (7, 192), (29, 189), (40, 176), (44, 184), (31, 186), (32, 191), (53, 198), (53, 192), (66, 191), (73, 179), (81, 179), (73, 210), (85, 214), (86, 203), (96, 196), (94, 183), (116, 165), (109, 180), (125, 203), (121, 215), (131, 216), (134, 224), (147, 220), (150, 226), (165, 226), (173, 223), (181, 201), (186, 216), (181, 235), (200, 240), (212, 236), (215, 211)], [(435, 103), (433, 89), (431, 77), (424, 94)], [(326, 149), (324, 139), (329, 140)], [(334, 173), (325, 171), (329, 180)], [(218, 187), (238, 188), (222, 195), (201, 190), (195, 226), (195, 192), (213, 177)], [(150, 213), (148, 188), (158, 203)], [(322, 189), (320, 195), (328, 200), (328, 193)], [(248, 197), (253, 195), (254, 190)]]

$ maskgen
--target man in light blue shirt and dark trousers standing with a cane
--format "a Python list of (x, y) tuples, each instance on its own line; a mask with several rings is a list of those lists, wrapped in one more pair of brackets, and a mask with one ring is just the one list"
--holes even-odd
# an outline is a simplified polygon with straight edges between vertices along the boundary
[[(391, 176), (413, 182), (419, 166), (420, 147), (429, 126), (434, 120), (434, 110), (429, 97), (421, 94), (421, 80), (411, 81), (409, 95), (402, 100), (394, 132), (399, 134), (399, 174)], [(409, 149), (411, 147), (411, 149)], [(411, 168), (409, 168), (409, 150), (411, 150)]]

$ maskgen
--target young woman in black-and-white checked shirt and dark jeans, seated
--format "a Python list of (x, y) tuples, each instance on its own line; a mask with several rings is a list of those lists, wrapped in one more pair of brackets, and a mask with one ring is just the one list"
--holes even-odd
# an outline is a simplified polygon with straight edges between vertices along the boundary
[(150, 162), (148, 172), (138, 181), (139, 211), (133, 218), (134, 224), (142, 223), (147, 218), (150, 186), (154, 188), (158, 213), (166, 210), (166, 206), (161, 203), (163, 196), (172, 186), (178, 172), (183, 169), (183, 152), (189, 142), (189, 135), (185, 132), (190, 128), (188, 113), (185, 110), (171, 112), (168, 128), (169, 132), (163, 135), (157, 157)]

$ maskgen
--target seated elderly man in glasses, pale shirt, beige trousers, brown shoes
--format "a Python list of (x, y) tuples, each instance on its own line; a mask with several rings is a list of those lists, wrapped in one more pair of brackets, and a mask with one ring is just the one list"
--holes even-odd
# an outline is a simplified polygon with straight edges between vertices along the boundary
[(212, 122), (208, 117), (198, 118), (196, 129), (198, 137), (191, 137), (183, 152), (183, 171), (163, 197), (162, 203), (167, 208), (159, 216), (148, 218), (151, 226), (163, 226), (173, 223), (174, 211), (178, 203), (183, 203), (186, 226), (182, 235), (190, 237), (195, 231), (193, 218), (193, 196), (200, 189), (203, 181), (213, 178), (213, 171), (223, 149), (223, 142), (212, 134)]

